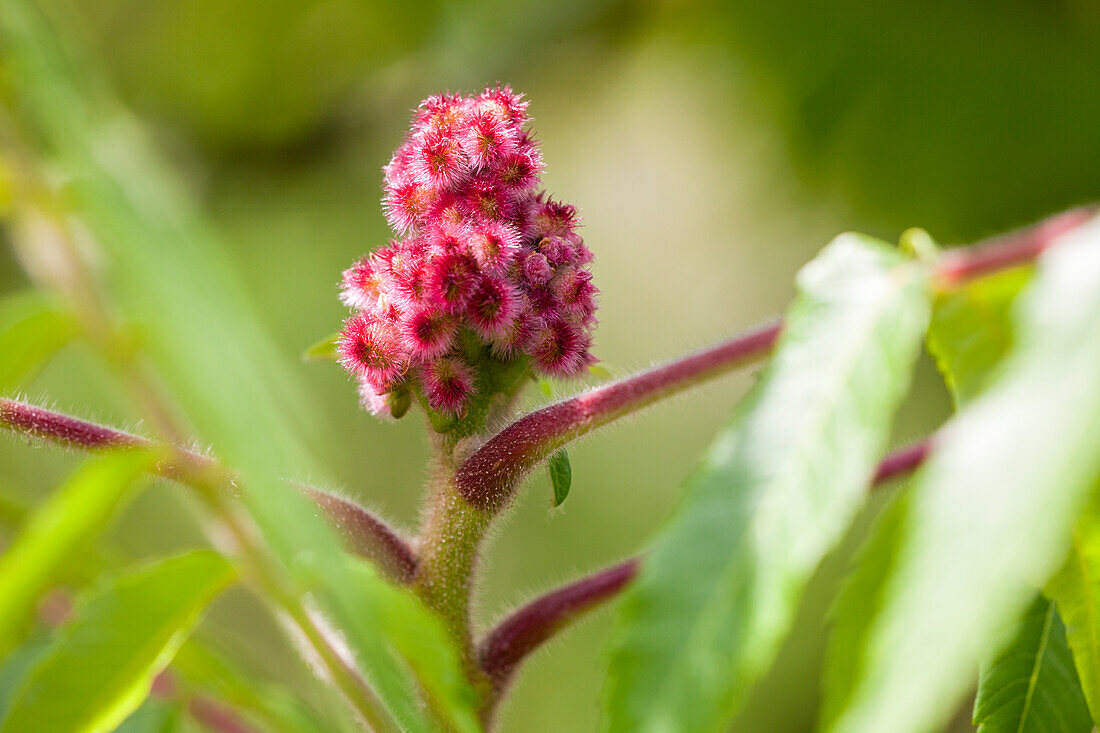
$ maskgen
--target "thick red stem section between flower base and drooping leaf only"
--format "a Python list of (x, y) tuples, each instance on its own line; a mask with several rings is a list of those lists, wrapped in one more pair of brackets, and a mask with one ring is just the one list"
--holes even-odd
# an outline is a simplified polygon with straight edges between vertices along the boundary
[(512, 500), (522, 475), (558, 448), (617, 417), (768, 353), (781, 325), (768, 324), (683, 359), (543, 407), (519, 418), (459, 469), (459, 493), (496, 512)]

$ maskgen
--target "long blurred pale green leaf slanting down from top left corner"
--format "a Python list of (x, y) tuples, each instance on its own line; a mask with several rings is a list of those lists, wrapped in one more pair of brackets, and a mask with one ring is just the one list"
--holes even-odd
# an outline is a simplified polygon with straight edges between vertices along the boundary
[[(0, 13), (0, 31), (11, 81), (0, 91), (13, 96), (13, 113), (33, 131), (52, 169), (64, 173), (72, 215), (105, 249), (111, 295), (141, 331), (164, 383), (202, 439), (240, 470), (252, 515), (282, 569), (297, 572), (297, 590), (309, 587), (332, 615), (353, 615), (372, 603), (385, 606), (394, 589), (381, 578), (353, 571), (315, 507), (282, 481), (322, 474), (300, 441), (301, 430), (319, 425), (311, 414), (315, 401), (289, 376), (226, 249), (142, 130), (107, 95), (96, 94), (102, 86), (94, 65), (87, 58), (74, 61), (76, 44), (63, 46), (37, 7), (11, 0)], [(320, 570), (307, 578), (306, 568)], [(359, 621), (342, 627), (405, 727), (433, 727), (417, 699), (420, 689), (439, 694), (439, 704), (463, 705), (444, 715), (473, 719), (468, 687), (455, 681), (464, 678), (450, 639), (437, 638), (437, 646), (424, 649), (431, 664), (410, 665), (418, 674), (446, 669), (446, 683), (418, 681), (409, 666), (394, 664), (386, 626)], [(422, 637), (436, 638), (430, 632)]]

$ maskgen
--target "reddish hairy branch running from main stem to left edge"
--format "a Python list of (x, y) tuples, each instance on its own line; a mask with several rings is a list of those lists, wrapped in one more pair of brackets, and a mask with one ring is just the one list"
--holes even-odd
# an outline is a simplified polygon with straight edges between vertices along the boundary
[[(46, 442), (92, 452), (112, 448), (153, 447), (152, 441), (145, 438), (14, 400), (0, 398), (0, 427)], [(210, 458), (184, 449), (178, 449), (176, 455), (175, 462), (168, 460), (158, 463), (156, 473), (168, 479), (186, 481), (188, 470), (187, 467), (179, 464), (180, 460), (190, 462), (193, 467), (212, 463)], [(394, 580), (400, 582), (413, 580), (416, 573), (416, 554), (385, 522), (346, 499), (312, 486), (299, 484), (298, 488), (336, 525), (346, 540), (349, 549), (378, 562)]]

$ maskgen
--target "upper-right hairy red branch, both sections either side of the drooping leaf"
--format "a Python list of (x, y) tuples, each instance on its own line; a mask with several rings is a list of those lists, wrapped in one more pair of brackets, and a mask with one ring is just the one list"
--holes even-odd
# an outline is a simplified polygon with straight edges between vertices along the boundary
[[(1074, 209), (1027, 229), (945, 252), (933, 265), (933, 282), (938, 288), (950, 288), (1026, 264), (1093, 216), (1092, 208)], [(774, 347), (781, 329), (781, 322), (759, 327), (521, 417), (493, 436), (459, 468), (455, 475), (459, 493), (482, 510), (502, 511), (512, 502), (527, 472), (553, 451), (659, 400), (763, 358)]]

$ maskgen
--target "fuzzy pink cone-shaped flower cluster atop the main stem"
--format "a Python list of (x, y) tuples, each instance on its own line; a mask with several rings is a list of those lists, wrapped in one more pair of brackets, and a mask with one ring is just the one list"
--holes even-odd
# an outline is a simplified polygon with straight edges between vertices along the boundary
[(483, 360), (526, 355), (548, 376), (594, 361), (592, 252), (574, 207), (537, 193), (527, 119), (508, 87), (430, 97), (385, 167), (386, 218), (404, 239), (344, 272), (341, 299), (356, 313), (338, 344), (375, 414), (419, 389), (461, 416)]

